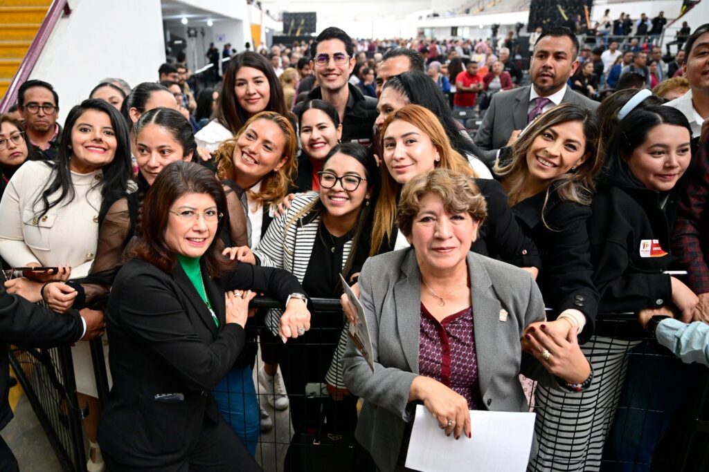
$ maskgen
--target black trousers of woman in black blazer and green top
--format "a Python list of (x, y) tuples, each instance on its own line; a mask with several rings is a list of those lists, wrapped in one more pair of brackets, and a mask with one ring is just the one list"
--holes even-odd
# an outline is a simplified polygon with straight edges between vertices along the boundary
[[(216, 425), (205, 422), (199, 436), (199, 441), (184, 461), (178, 464), (165, 464), (160, 467), (136, 467), (121, 464), (106, 451), (101, 450), (108, 470), (111, 472), (142, 471), (142, 472), (257, 472), (261, 468), (249, 454), (231, 427), (219, 417)], [(4, 469), (0, 468), (4, 471)]]

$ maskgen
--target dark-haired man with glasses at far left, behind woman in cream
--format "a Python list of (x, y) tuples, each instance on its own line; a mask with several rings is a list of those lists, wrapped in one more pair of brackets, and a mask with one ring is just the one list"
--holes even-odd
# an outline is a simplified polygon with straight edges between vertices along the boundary
[(25, 120), (27, 140), (39, 159), (57, 159), (62, 127), (57, 124), (59, 96), (54, 87), (40, 80), (26, 81), (18, 91), (17, 108)]

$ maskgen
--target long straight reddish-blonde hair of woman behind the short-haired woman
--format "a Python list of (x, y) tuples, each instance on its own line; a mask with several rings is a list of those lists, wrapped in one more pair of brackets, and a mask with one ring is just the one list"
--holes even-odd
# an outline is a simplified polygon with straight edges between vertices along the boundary
[[(381, 125), (381, 149), (384, 150), (384, 136), (386, 129), (392, 122), (402, 120), (410, 123), (423, 131), (431, 140), (431, 144), (438, 151), (440, 161), (434, 162), (437, 168), (450, 169), (451, 171), (476, 177), (468, 160), (452, 148), (450, 141), (445, 134), (445, 129), (438, 118), (427, 108), (420, 105), (406, 105), (389, 115)], [(389, 173), (386, 165), (381, 168), (381, 190), (376, 199), (374, 209), (374, 224), (372, 224), (372, 241), (369, 248), (369, 255), (375, 255), (379, 251), (384, 238), (391, 241), (393, 234), (394, 219), (396, 218), (396, 200), (401, 192), (401, 183), (398, 183)]]

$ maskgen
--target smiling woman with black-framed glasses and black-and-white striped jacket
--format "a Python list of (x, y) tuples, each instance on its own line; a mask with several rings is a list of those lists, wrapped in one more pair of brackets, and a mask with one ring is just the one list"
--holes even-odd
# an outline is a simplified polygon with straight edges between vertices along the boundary
[[(367, 259), (374, 208), (370, 202), (376, 198), (379, 169), (364, 146), (337, 144), (323, 159), (318, 183), (318, 192), (298, 194), (253, 253), (241, 260), (288, 270), (308, 297), (334, 298), (342, 294), (340, 273), (350, 280)], [(274, 334), (278, 316), (280, 311), (271, 310), (266, 318)], [(323, 408), (328, 432), (354, 432), (357, 398), (342, 380), (346, 346), (347, 318), (341, 312), (316, 312), (308, 333), (279, 349), (296, 434), (320, 426)], [(303, 400), (306, 384), (323, 388), (316, 398)], [(320, 397), (328, 395), (332, 401), (323, 403)], [(296, 460), (287, 454), (286, 470)]]

